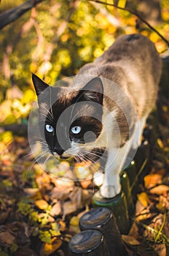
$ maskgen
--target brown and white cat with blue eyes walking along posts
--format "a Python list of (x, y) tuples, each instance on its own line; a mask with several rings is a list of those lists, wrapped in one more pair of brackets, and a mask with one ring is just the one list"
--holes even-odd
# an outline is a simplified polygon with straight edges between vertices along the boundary
[(47, 151), (85, 162), (106, 150), (101, 195), (118, 195), (119, 173), (129, 152), (141, 143), (160, 74), (154, 44), (141, 34), (130, 34), (84, 65), (69, 87), (52, 87), (33, 75)]

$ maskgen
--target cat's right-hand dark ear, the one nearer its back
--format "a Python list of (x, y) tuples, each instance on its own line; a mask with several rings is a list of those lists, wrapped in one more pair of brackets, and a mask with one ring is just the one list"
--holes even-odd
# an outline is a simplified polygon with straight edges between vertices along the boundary
[(90, 80), (81, 91), (84, 100), (103, 104), (103, 83), (101, 78), (95, 77)]

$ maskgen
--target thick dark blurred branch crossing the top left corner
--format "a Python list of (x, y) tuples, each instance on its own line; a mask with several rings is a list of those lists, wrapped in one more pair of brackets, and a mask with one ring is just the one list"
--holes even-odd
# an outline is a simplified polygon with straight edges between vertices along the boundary
[(1, 13), (0, 15), (0, 29), (3, 29), (4, 26), (7, 26), (9, 23), (12, 23), (12, 21), (19, 18), (21, 15), (23, 15), (25, 12), (30, 10), (32, 7), (34, 7), (36, 4), (39, 4), (44, 0), (28, 0), (24, 4), (21, 4), (18, 7), (15, 7), (11, 10), (7, 10), (6, 12)]

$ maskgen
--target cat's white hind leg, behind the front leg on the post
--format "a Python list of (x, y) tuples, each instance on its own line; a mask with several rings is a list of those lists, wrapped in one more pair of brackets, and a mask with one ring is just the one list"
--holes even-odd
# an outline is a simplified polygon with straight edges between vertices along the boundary
[(135, 132), (133, 135), (132, 148), (136, 149), (138, 148), (138, 146), (141, 146), (141, 139), (142, 139), (145, 125), (146, 125), (146, 116), (142, 117), (140, 121), (136, 122)]

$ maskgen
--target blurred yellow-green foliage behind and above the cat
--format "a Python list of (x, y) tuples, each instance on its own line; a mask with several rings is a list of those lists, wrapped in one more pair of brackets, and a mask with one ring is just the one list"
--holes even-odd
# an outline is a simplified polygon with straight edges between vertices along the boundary
[[(1, 12), (24, 1), (1, 1)], [(111, 2), (111, 1), (109, 1)], [(113, 3), (113, 1), (111, 2)], [(120, 7), (140, 10), (140, 1), (119, 1)], [(153, 26), (168, 39), (169, 2), (160, 1), (161, 20)], [(144, 13), (143, 13), (144, 15)], [(36, 99), (31, 72), (53, 84), (75, 75), (82, 65), (103, 53), (119, 34), (141, 31), (162, 53), (165, 42), (130, 12), (90, 1), (42, 1), (1, 30), (1, 124), (25, 121)]]

